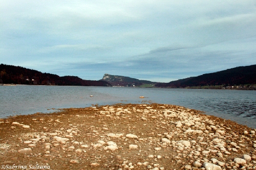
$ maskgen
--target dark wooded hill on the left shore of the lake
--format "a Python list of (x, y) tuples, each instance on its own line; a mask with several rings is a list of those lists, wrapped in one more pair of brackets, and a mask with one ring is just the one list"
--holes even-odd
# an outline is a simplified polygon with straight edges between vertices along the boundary
[(82, 80), (76, 76), (53, 75), (13, 65), (0, 65), (0, 83), (59, 86), (112, 86), (105, 81)]

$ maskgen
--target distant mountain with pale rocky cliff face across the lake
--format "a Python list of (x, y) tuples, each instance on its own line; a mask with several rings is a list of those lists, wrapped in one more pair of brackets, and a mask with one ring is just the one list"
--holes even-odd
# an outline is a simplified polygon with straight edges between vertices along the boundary
[(109, 74), (104, 74), (101, 81), (106, 81), (113, 86), (141, 86), (144, 84), (150, 84), (154, 86), (157, 83), (157, 82), (151, 82), (147, 80), (139, 80), (139, 79), (134, 79), (130, 77), (114, 76)]

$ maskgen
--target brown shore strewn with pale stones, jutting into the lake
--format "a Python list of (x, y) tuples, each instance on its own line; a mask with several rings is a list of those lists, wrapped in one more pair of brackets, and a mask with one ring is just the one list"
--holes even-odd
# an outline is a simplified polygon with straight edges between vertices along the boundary
[(0, 122), (2, 169), (256, 169), (255, 130), (180, 106), (71, 108)]

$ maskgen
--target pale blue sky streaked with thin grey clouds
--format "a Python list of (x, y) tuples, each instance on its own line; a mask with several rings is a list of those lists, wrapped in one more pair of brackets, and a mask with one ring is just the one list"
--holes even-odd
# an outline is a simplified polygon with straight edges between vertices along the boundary
[(100, 80), (256, 64), (256, 0), (0, 0), (0, 63)]

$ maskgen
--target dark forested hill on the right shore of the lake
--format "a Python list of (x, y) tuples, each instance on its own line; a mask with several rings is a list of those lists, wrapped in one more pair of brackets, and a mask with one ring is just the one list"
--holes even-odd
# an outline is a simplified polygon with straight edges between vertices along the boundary
[(181, 79), (169, 83), (158, 83), (155, 86), (177, 88), (215, 85), (234, 86), (245, 84), (256, 84), (256, 65), (230, 68), (198, 77)]

